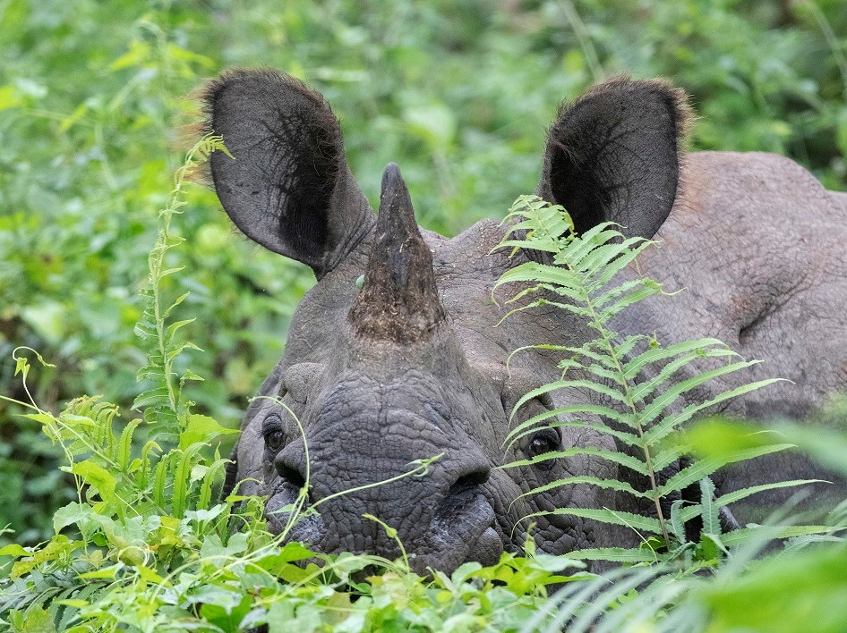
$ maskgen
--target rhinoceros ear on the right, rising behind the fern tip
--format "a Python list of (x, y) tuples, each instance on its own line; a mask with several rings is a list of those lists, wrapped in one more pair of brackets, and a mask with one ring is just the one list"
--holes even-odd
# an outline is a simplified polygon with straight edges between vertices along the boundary
[(560, 108), (536, 193), (568, 209), (577, 232), (612, 221), (651, 238), (676, 198), (690, 118), (666, 81), (607, 81)]

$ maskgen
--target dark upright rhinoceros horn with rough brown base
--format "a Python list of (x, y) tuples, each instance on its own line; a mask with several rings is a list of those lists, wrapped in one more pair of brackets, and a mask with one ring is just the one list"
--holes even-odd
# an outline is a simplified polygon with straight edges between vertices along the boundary
[(375, 341), (425, 341), (445, 319), (432, 253), (397, 165), (382, 174), (380, 215), (362, 292), (348, 316), (356, 335)]

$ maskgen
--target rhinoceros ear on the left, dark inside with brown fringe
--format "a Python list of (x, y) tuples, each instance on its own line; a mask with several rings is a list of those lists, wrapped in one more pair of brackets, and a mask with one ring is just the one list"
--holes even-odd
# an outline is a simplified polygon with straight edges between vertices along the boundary
[(253, 241), (321, 278), (375, 222), (329, 105), (301, 81), (268, 69), (224, 72), (202, 97), (206, 131), (222, 135), (234, 156), (210, 157), (227, 214)]

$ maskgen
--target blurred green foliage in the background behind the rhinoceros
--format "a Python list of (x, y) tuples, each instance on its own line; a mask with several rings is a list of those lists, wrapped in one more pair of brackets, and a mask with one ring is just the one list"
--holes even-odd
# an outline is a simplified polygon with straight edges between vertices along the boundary
[[(688, 90), (693, 148), (778, 152), (847, 186), (843, 0), (0, 0), (0, 393), (25, 395), (11, 354), (28, 345), (56, 364), (30, 376), (42, 407), (103, 394), (133, 417), (185, 96), (232, 65), (320, 89), (372, 202), (396, 161), (421, 224), (449, 235), (532, 191), (559, 102), (623, 72)], [(168, 290), (192, 293), (198, 410), (235, 426), (312, 274), (236, 234), (208, 190), (188, 200)], [(73, 487), (14, 412), (0, 403), (0, 527), (33, 543)]]

